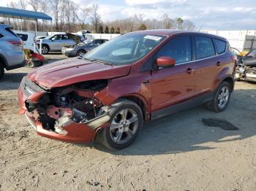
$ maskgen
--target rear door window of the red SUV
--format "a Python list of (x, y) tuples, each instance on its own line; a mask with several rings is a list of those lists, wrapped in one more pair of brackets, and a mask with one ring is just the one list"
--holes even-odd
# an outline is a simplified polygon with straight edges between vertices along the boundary
[(214, 44), (211, 38), (195, 36), (195, 54), (197, 59), (208, 58), (215, 55)]

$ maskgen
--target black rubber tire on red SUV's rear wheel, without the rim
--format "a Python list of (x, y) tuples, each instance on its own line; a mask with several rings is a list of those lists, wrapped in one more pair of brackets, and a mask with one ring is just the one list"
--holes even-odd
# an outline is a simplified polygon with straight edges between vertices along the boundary
[[(224, 106), (219, 106), (219, 95), (221, 93), (221, 91), (223, 90), (223, 88), (227, 88), (228, 90), (228, 96), (227, 96), (227, 101), (225, 103)], [(226, 108), (227, 108), (227, 105), (230, 101), (230, 95), (231, 95), (231, 85), (230, 83), (228, 82), (222, 82), (221, 85), (219, 85), (217, 91), (215, 92), (214, 94), (214, 99), (208, 103), (208, 109), (211, 109), (212, 111), (214, 112), (223, 112)]]

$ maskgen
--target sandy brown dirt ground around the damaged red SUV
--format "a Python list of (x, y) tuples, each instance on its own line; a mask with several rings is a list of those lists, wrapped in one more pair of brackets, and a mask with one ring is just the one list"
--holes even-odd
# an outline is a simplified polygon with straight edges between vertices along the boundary
[[(0, 82), (0, 190), (256, 190), (256, 84), (236, 82), (225, 112), (173, 114), (110, 152), (37, 136), (18, 116), (17, 88), (29, 71), (9, 71)], [(207, 127), (202, 117), (239, 130)]]

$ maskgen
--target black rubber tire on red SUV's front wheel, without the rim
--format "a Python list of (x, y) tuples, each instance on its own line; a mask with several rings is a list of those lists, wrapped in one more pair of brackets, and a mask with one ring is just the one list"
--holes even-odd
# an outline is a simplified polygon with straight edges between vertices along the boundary
[(128, 147), (130, 144), (132, 144), (132, 142), (135, 141), (138, 134), (140, 133), (140, 130), (143, 127), (143, 113), (141, 112), (140, 107), (135, 104), (135, 102), (129, 101), (127, 99), (120, 99), (112, 106), (113, 109), (111, 109), (110, 111), (110, 123), (113, 121), (114, 117), (116, 117), (116, 115), (124, 109), (131, 109), (131, 111), (135, 112), (138, 117), (138, 123), (136, 122), (138, 126), (135, 133), (133, 134), (132, 138), (130, 138), (129, 141), (125, 142), (124, 144), (117, 144), (115, 141), (113, 141), (113, 138), (111, 138), (110, 136), (110, 134), (112, 133), (110, 131), (110, 127), (104, 128), (99, 132), (99, 141), (101, 141), (102, 144), (105, 145), (105, 147), (108, 147), (108, 149), (112, 150), (124, 149), (125, 147)]

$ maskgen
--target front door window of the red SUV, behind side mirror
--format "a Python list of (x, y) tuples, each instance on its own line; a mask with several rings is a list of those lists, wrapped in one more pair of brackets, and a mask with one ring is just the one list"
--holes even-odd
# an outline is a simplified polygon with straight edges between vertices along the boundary
[(165, 44), (159, 52), (157, 57), (167, 56), (174, 58), (176, 63), (185, 63), (192, 61), (192, 48), (191, 40), (189, 36), (181, 36), (172, 39), (170, 42)]

